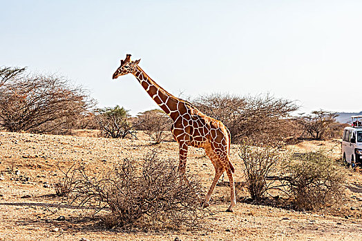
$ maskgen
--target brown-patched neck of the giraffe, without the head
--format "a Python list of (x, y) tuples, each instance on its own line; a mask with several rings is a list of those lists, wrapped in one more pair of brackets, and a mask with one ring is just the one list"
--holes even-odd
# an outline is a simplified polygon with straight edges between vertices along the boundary
[(155, 101), (166, 114), (171, 116), (173, 120), (180, 114), (182, 115), (184, 112), (187, 112), (186, 105), (182, 105), (182, 108), (179, 106), (179, 103), (184, 103), (184, 101), (181, 101), (169, 92), (166, 92), (166, 90), (155, 83), (140, 66), (137, 66), (133, 75), (137, 78), (137, 81), (140, 82), (142, 87), (144, 87), (144, 90), (146, 90), (149, 96), (153, 98), (153, 101)]

